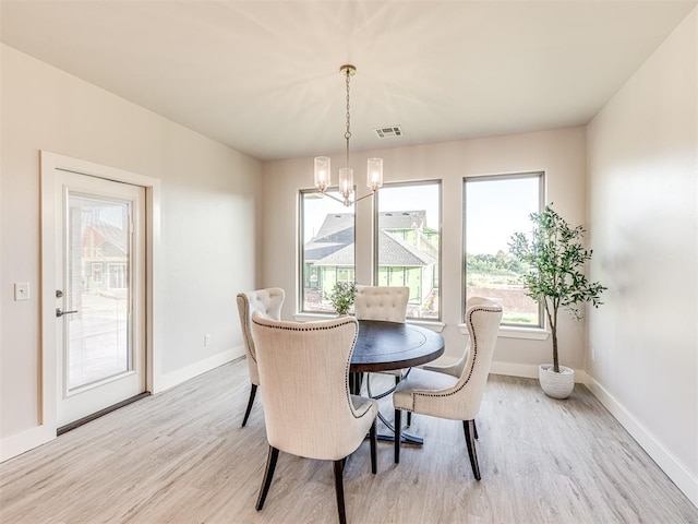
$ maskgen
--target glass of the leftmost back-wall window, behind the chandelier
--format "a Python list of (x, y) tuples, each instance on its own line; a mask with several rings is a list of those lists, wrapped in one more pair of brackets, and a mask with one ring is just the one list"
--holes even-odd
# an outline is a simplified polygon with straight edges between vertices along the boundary
[(300, 230), (300, 310), (332, 312), (325, 297), (335, 283), (356, 281), (353, 205), (346, 207), (318, 191), (301, 191)]

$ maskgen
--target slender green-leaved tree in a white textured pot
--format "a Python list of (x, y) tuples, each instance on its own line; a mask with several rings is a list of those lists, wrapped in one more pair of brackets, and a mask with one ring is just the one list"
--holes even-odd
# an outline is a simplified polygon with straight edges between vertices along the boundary
[(557, 356), (557, 313), (561, 308), (581, 319), (580, 306), (603, 303), (604, 286), (589, 282), (583, 273), (592, 250), (582, 245), (585, 229), (570, 227), (550, 205), (542, 213), (531, 213), (533, 230), (530, 238), (515, 233), (510, 253), (527, 267), (521, 276), (529, 297), (543, 303), (553, 341), (553, 364), (541, 365), (539, 380), (549, 396), (566, 398), (575, 386), (575, 371), (559, 365)]

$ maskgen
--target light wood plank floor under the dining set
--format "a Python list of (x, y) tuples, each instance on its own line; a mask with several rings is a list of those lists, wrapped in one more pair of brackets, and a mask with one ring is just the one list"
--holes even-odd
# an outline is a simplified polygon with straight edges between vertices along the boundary
[[(284, 453), (254, 510), (267, 444), (261, 398), (240, 428), (248, 393), (239, 360), (0, 464), (0, 522), (336, 522), (332, 464)], [(416, 416), (424, 448), (404, 448), (396, 466), (378, 444), (375, 476), (364, 442), (345, 471), (349, 522), (698, 523), (583, 386), (554, 401), (533, 380), (493, 376), (478, 429), (479, 483), (457, 421)]]

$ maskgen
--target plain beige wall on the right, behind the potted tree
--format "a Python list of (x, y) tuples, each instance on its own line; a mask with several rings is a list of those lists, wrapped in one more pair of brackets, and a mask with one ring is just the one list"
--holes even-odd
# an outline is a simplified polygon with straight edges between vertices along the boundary
[(588, 127), (594, 393), (698, 505), (698, 10)]

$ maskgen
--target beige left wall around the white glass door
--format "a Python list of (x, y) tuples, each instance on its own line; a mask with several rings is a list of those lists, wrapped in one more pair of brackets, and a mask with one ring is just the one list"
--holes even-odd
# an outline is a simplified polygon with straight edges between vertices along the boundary
[[(159, 179), (160, 384), (242, 354), (236, 294), (256, 287), (261, 165), (10, 47), (1, 48), (0, 439), (40, 422), (39, 151)], [(15, 302), (13, 283), (32, 299)], [(47, 295), (48, 294), (48, 295)], [(203, 346), (203, 335), (212, 345)]]

